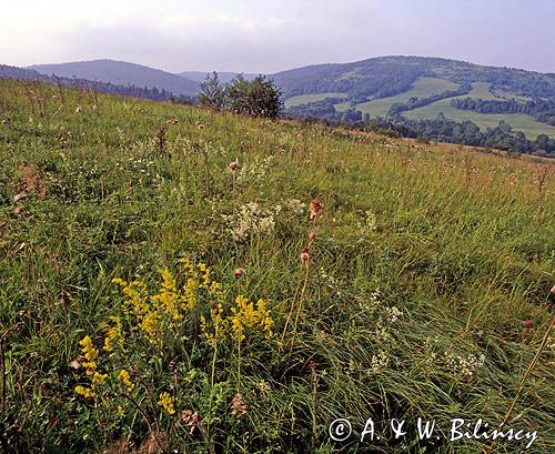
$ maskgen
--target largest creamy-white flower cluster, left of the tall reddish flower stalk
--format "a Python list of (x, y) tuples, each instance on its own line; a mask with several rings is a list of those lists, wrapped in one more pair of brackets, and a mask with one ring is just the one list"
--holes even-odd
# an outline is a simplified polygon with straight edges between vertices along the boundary
[(275, 221), (272, 212), (261, 210), (256, 202), (242, 205), (234, 214), (222, 214), (228, 223), (234, 241), (246, 241), (255, 234), (268, 234), (274, 230)]

